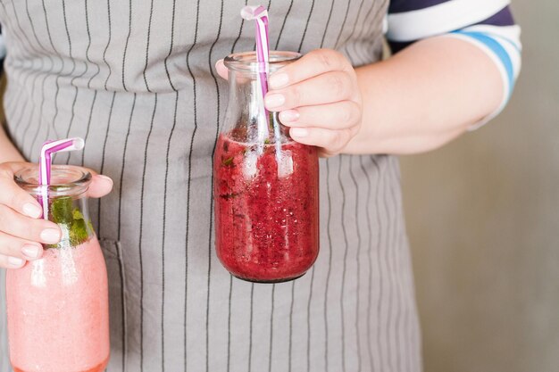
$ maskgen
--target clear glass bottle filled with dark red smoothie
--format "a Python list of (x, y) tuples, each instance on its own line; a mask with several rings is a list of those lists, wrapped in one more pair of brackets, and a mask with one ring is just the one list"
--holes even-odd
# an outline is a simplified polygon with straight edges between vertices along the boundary
[[(300, 54), (271, 52), (269, 72)], [(229, 104), (213, 159), (216, 251), (235, 277), (276, 283), (301, 277), (319, 252), (317, 149), (263, 110), (254, 52), (231, 54)]]

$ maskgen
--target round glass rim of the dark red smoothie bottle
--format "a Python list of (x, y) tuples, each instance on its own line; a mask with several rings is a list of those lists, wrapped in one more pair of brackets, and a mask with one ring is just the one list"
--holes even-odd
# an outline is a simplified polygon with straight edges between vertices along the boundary
[[(268, 69), (270, 72), (280, 70), (290, 62), (295, 62), (301, 58), (301, 54), (287, 51), (270, 51)], [(256, 52), (242, 52), (229, 54), (224, 60), (225, 67), (229, 70), (246, 73), (257, 73), (260, 63), (256, 59)]]

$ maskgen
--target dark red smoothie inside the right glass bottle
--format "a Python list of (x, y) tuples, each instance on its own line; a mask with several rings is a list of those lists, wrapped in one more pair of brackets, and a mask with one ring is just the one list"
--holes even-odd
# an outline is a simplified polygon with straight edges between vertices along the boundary
[(319, 251), (316, 149), (288, 142), (277, 150), (221, 135), (214, 157), (217, 254), (254, 282), (300, 277)]

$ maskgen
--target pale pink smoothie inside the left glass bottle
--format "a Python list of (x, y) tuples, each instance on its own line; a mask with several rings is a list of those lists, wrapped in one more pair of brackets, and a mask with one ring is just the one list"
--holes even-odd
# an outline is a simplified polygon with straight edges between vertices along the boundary
[(16, 372), (97, 372), (109, 359), (107, 273), (96, 237), (6, 274)]

